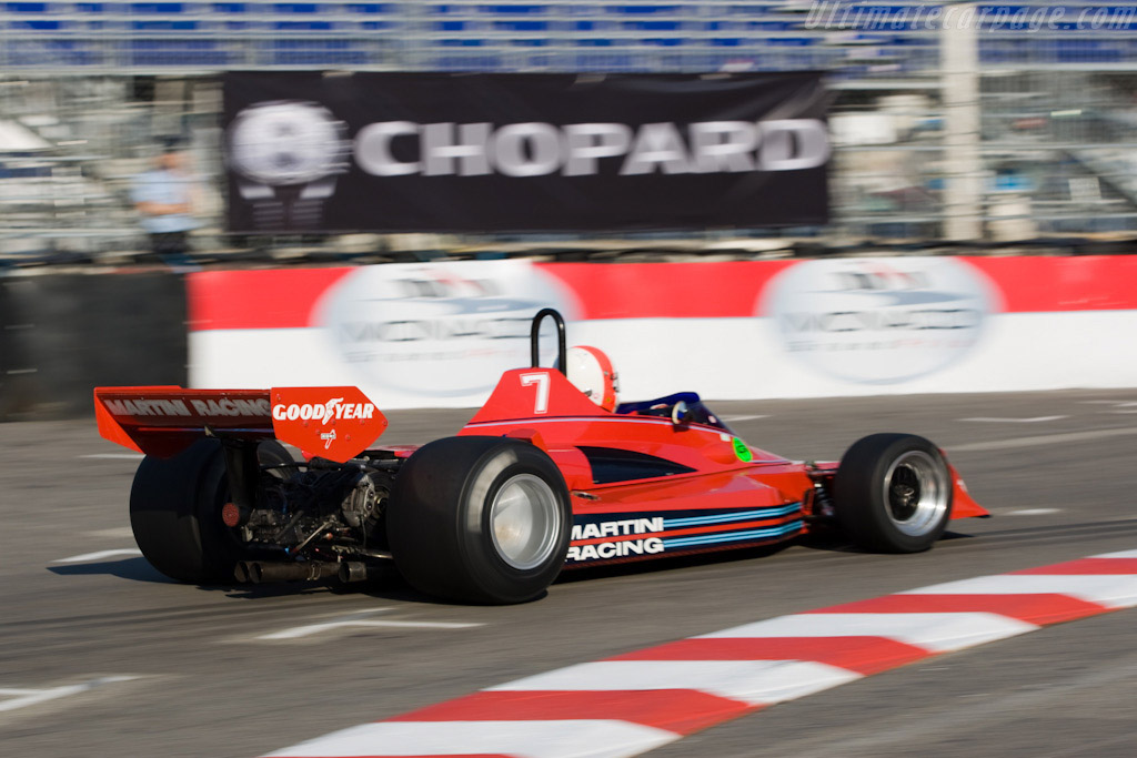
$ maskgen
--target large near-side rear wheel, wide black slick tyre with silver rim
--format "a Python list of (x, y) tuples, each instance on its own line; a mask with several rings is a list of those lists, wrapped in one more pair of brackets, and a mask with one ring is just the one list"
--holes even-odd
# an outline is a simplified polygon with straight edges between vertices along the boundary
[(491, 436), (420, 448), (396, 476), (388, 509), (402, 576), (460, 602), (540, 597), (564, 566), (571, 524), (556, 464), (528, 442)]

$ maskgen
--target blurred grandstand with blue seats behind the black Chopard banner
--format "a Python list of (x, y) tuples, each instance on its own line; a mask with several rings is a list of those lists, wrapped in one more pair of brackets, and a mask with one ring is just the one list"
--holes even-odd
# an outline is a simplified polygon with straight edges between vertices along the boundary
[[(971, 45), (968, 70), (945, 63), (958, 59), (953, 45)], [(215, 176), (216, 74), (312, 68), (821, 69), (839, 93), (832, 232), (1137, 230), (1134, 7), (0, 1), (0, 119), (49, 143), (0, 142), (0, 248), (135, 244), (123, 186), (150, 138), (193, 131), (199, 168)], [(961, 135), (953, 124), (970, 118), (979, 133)], [(952, 214), (976, 223), (952, 232)]]

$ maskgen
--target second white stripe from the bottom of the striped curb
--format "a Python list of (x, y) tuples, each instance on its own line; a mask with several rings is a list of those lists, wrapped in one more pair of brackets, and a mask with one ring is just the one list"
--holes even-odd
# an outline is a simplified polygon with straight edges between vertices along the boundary
[(853, 682), (861, 674), (803, 660), (601, 660), (489, 688), (489, 691), (698, 690), (761, 706)]

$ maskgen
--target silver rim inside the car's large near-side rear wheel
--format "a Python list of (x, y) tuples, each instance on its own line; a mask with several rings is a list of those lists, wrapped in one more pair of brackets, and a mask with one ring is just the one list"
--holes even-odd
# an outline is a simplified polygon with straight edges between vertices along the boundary
[(532, 474), (506, 480), (490, 505), (490, 536), (501, 560), (518, 570), (548, 560), (561, 536), (558, 510), (545, 480)]

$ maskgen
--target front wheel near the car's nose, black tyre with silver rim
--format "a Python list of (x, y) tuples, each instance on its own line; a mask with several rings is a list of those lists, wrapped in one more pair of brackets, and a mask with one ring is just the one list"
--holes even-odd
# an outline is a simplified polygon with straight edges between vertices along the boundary
[(872, 434), (848, 449), (833, 482), (837, 517), (878, 552), (929, 549), (952, 517), (952, 477), (939, 449), (913, 434)]

